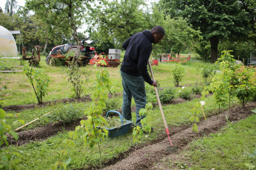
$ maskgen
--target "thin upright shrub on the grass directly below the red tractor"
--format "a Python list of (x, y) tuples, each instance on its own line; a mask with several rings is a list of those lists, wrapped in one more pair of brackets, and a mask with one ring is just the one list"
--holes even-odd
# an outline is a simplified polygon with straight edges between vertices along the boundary
[(72, 90), (74, 91), (74, 97), (80, 98), (83, 93), (83, 80), (81, 80), (80, 68), (77, 63), (70, 62), (68, 69), (66, 70), (66, 77), (68, 81), (72, 83)]

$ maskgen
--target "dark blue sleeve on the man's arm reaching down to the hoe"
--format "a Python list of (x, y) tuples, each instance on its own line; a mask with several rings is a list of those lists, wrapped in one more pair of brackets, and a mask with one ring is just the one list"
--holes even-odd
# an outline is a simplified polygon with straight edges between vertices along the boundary
[(148, 84), (153, 84), (153, 80), (149, 76), (147, 72), (147, 63), (149, 56), (151, 55), (152, 52), (152, 46), (145, 46), (142, 50), (140, 50), (139, 53), (139, 61), (138, 61), (138, 70), (140, 75), (142, 75), (143, 79), (148, 83)]

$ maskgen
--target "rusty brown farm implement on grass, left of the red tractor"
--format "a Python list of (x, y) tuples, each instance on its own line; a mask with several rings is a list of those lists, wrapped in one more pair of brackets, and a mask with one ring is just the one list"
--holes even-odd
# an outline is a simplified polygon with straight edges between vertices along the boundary
[[(32, 55), (30, 57), (28, 57), (27, 55), (27, 48), (25, 46), (23, 46), (22, 48), (22, 58), (21, 60), (29, 60), (29, 65), (36, 65), (39, 64), (40, 62), (40, 50), (43, 46), (40, 45), (32, 45), (32, 48), (34, 48), (35, 50), (32, 49)], [(34, 55), (34, 53), (37, 53), (37, 56)]]

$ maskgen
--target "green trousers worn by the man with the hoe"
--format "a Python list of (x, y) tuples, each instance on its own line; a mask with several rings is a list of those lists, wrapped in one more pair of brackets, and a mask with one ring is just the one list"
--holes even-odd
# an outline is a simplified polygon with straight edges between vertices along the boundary
[(139, 116), (139, 110), (145, 108), (147, 96), (145, 90), (145, 81), (140, 77), (134, 77), (121, 71), (123, 100), (122, 100), (122, 117), (131, 120), (131, 99), (134, 98), (136, 103), (136, 126), (142, 126), (140, 120), (144, 117)]

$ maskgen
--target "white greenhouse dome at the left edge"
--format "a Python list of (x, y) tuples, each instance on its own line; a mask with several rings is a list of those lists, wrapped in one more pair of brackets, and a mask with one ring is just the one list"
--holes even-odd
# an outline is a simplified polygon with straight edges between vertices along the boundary
[(0, 25), (0, 56), (17, 55), (17, 46), (12, 33)]

